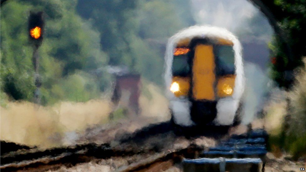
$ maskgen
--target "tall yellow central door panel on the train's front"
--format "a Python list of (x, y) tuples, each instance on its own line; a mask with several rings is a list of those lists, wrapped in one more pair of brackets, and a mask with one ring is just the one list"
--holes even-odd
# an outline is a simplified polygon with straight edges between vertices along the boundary
[(193, 59), (193, 98), (195, 100), (215, 100), (214, 82), (216, 79), (212, 45), (199, 44)]

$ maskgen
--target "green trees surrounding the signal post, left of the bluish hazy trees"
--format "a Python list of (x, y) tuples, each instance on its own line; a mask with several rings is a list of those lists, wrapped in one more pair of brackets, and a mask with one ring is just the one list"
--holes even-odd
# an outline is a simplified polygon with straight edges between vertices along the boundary
[[(83, 92), (79, 92), (79, 96), (87, 98), (78, 98), (76, 101), (96, 98), (99, 95), (97, 93), (105, 89), (109, 82), (108, 74), (97, 77), (88, 73), (106, 65), (108, 56), (101, 50), (99, 33), (92, 29), (90, 22), (85, 22), (75, 12), (76, 4), (77, 1), (70, 0), (12, 0), (1, 7), (2, 95), (5, 93), (11, 100), (31, 101), (33, 97), (33, 49), (27, 30), (30, 10), (43, 11), (45, 16), (44, 40), (39, 48), (43, 102), (70, 100), (69, 90), (79, 87), (77, 83), (68, 84), (73, 82), (69, 79), (70, 75), (79, 75), (84, 81), (94, 80), (96, 84), (92, 87), (95, 88), (92, 92), (96, 94), (90, 94), (91, 97), (86, 92), (86, 84), (82, 84), (84, 87), (80, 90)], [(58, 99), (54, 100), (54, 97)]]

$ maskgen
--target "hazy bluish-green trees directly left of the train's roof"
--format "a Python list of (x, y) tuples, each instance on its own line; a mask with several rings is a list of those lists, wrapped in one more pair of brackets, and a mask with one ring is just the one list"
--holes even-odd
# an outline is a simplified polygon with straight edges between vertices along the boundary
[(77, 5), (78, 13), (100, 32), (110, 65), (127, 65), (158, 84), (163, 83), (167, 39), (194, 23), (186, 23), (191, 18), (186, 8), (181, 0), (79, 0)]

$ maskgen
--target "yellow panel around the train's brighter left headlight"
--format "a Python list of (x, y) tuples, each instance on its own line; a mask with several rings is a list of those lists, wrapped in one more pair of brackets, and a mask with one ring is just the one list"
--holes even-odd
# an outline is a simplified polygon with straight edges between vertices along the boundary
[(178, 88), (175, 88), (176, 90), (174, 91), (172, 90), (175, 96), (179, 97), (188, 95), (190, 89), (190, 77), (174, 76), (172, 78), (172, 84), (173, 83), (178, 84)]

